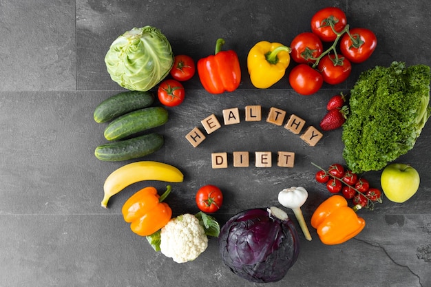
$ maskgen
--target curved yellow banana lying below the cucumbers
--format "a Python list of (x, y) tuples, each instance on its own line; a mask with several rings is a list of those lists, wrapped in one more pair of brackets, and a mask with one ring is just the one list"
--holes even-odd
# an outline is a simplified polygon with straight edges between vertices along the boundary
[(103, 185), (102, 206), (107, 207), (107, 202), (112, 195), (116, 195), (125, 187), (143, 180), (160, 180), (164, 182), (182, 182), (184, 175), (176, 167), (163, 162), (140, 161), (132, 162), (113, 171)]

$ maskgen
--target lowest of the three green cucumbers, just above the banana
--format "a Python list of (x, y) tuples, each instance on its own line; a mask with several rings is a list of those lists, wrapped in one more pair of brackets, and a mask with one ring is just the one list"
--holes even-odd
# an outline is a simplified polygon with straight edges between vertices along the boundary
[(104, 161), (120, 161), (140, 158), (154, 153), (165, 143), (163, 136), (159, 134), (145, 134), (130, 138), (128, 140), (118, 140), (99, 145), (94, 151), (94, 156)]

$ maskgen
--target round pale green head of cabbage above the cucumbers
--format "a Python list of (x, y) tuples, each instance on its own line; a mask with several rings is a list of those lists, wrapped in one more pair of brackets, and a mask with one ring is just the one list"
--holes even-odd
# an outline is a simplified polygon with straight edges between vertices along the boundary
[(109, 47), (105, 63), (107, 72), (118, 85), (145, 92), (169, 74), (174, 53), (158, 28), (145, 26), (118, 36)]

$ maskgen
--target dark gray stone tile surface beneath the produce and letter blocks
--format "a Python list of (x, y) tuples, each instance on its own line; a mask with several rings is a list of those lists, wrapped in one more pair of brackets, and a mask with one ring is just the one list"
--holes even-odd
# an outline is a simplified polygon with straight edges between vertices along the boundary
[[(299, 96), (287, 76), (270, 89), (255, 89), (246, 73), (246, 54), (257, 41), (288, 45), (306, 32), (312, 15), (325, 6), (346, 11), (351, 27), (372, 29), (378, 46), (365, 63), (338, 86)], [(169, 108), (169, 122), (155, 129), (165, 147), (147, 156), (174, 164), (185, 181), (173, 184), (167, 202), (174, 215), (195, 213), (197, 189), (216, 184), (224, 205), (215, 213), (223, 223), (253, 207), (277, 205), (277, 193), (306, 187), (302, 207), (309, 220), (329, 194), (314, 180), (315, 162), (344, 163), (341, 129), (324, 133), (315, 147), (283, 127), (266, 123), (271, 107), (318, 126), (326, 101), (348, 92), (360, 72), (375, 65), (405, 61), (431, 65), (431, 8), (413, 1), (0, 1), (0, 286), (258, 286), (233, 275), (218, 254), (217, 242), (194, 262), (176, 264), (132, 233), (121, 215), (125, 200), (146, 186), (140, 182), (100, 206), (105, 178), (125, 162), (101, 162), (94, 148), (105, 142), (105, 125), (92, 118), (94, 107), (123, 89), (107, 74), (103, 58), (119, 34), (154, 25), (168, 37), (175, 54), (196, 61), (213, 53), (215, 40), (238, 52), (242, 84), (238, 90), (210, 95), (195, 76), (185, 83), (187, 98)], [(289, 72), (293, 64), (288, 67)], [(222, 126), (199, 147), (185, 140), (193, 127), (222, 110), (262, 105), (263, 119)], [(202, 127), (201, 127), (202, 129)], [(203, 129), (202, 129), (203, 131)], [(326, 246), (311, 228), (313, 241), (298, 228), (302, 248), (297, 263), (271, 286), (431, 286), (431, 127), (414, 149), (397, 162), (412, 164), (421, 175), (417, 194), (403, 204), (383, 199), (374, 211), (359, 211), (366, 228), (353, 240)], [(211, 153), (250, 151), (251, 166), (211, 169)], [(253, 167), (254, 151), (295, 152), (295, 167)], [(129, 161), (129, 162), (132, 162)], [(380, 171), (364, 176), (379, 187)], [(292, 220), (297, 224), (293, 213)]]

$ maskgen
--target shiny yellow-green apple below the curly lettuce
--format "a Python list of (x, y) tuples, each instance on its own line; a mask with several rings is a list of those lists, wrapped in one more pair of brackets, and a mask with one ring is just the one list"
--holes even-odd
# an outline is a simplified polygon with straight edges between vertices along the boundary
[(380, 177), (381, 189), (393, 202), (406, 202), (419, 189), (419, 173), (408, 164), (392, 163), (383, 169)]

